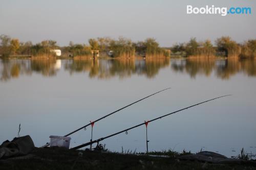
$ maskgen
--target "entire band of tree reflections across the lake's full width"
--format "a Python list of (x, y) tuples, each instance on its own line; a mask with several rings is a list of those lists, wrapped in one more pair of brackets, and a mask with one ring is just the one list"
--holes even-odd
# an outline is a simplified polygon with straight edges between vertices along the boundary
[(136, 59), (26, 59), (26, 60), (1, 60), (1, 81), (18, 78), (20, 75), (32, 75), (33, 72), (43, 76), (55, 76), (63, 65), (70, 74), (88, 72), (90, 78), (121, 79), (132, 75), (144, 75), (154, 78), (161, 68), (169, 66), (175, 72), (188, 74), (195, 78), (198, 74), (206, 77), (213, 72), (216, 77), (229, 79), (238, 72), (247, 76), (256, 76), (256, 59), (215, 59), (215, 58), (136, 58)]

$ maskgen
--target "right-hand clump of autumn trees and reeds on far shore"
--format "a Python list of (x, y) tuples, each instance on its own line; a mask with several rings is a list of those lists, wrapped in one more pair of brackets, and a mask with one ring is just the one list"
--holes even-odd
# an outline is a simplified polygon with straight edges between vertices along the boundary
[(256, 39), (237, 43), (229, 36), (217, 38), (216, 46), (210, 40), (198, 42), (191, 38), (188, 42), (175, 44), (171, 49), (174, 55), (189, 56), (225, 56), (225, 57), (256, 57)]

